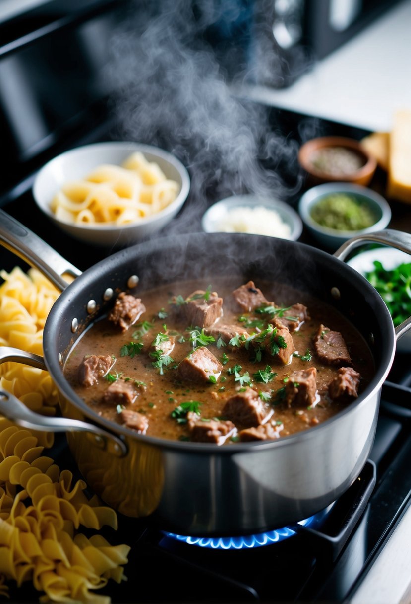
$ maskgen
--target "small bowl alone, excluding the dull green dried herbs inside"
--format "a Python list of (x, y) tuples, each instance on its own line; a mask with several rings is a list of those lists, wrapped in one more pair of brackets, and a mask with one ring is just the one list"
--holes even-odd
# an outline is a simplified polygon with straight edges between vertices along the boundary
[[(372, 211), (375, 212), (377, 220), (368, 228), (360, 231), (337, 231), (335, 229), (321, 226), (311, 217), (313, 206), (324, 197), (334, 193), (347, 193), (365, 201)], [(351, 237), (360, 234), (374, 233), (380, 231), (388, 225), (391, 220), (391, 208), (388, 202), (378, 193), (362, 185), (351, 184), (348, 182), (326, 182), (316, 187), (310, 188), (300, 199), (298, 211), (304, 224), (315, 239), (321, 243), (324, 248), (330, 251), (336, 251)]]

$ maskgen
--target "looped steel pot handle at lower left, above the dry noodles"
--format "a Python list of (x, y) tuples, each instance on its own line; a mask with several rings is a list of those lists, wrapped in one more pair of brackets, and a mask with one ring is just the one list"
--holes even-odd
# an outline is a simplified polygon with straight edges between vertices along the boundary
[[(25, 363), (31, 367), (37, 367), (47, 371), (43, 358), (30, 352), (0, 346), (0, 364), (6, 361)], [(0, 389), (0, 413), (11, 422), (24, 428), (42, 430), (45, 432), (90, 432), (92, 442), (101, 449), (107, 450), (116, 457), (124, 457), (127, 454), (127, 445), (124, 440), (111, 432), (99, 428), (93, 423), (81, 422), (77, 419), (66, 417), (49, 417), (34, 413), (28, 409), (14, 394)]]

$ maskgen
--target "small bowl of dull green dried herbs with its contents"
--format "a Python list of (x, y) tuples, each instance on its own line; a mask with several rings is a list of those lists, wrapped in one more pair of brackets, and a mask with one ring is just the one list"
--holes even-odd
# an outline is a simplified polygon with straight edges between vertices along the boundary
[(391, 220), (391, 208), (380, 194), (347, 182), (310, 188), (298, 210), (307, 230), (330, 251), (351, 237), (386, 228)]

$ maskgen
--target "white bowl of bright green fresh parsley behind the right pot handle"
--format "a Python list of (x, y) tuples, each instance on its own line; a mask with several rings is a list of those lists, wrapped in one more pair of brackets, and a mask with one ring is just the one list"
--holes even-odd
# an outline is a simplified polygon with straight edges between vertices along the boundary
[[(395, 327), (411, 315), (411, 255), (381, 247), (360, 252), (348, 260), (348, 264), (383, 298)], [(411, 352), (411, 333), (398, 339), (397, 350)]]

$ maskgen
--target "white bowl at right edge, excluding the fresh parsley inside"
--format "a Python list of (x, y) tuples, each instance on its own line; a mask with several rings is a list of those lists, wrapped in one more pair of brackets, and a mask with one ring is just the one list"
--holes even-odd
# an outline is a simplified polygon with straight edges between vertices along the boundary
[[(384, 269), (391, 271), (403, 262), (411, 262), (411, 255), (405, 254), (399, 249), (375, 248), (360, 252), (360, 254), (348, 260), (347, 264), (365, 277), (366, 273), (374, 270), (374, 260), (380, 260)], [(397, 350), (399, 352), (411, 352), (411, 332), (401, 336), (397, 343)]]

